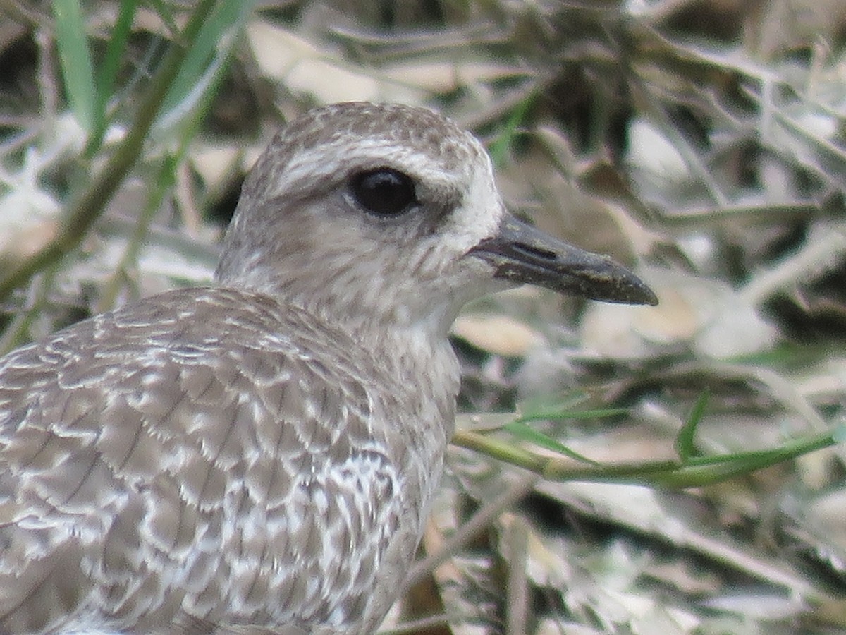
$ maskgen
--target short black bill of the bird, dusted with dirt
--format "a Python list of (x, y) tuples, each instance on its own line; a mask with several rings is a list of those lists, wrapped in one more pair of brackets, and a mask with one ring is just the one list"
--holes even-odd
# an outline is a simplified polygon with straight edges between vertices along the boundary
[(643, 280), (610, 257), (556, 240), (511, 214), (503, 218), (497, 235), (482, 240), (468, 254), (496, 267), (495, 278), (516, 284), (537, 284), (591, 300), (658, 303)]

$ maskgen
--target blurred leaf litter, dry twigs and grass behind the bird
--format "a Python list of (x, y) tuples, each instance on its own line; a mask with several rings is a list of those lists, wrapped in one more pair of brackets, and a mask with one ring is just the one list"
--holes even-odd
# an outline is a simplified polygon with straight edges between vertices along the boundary
[[(464, 432), (590, 466), (841, 441), (844, 45), (842, 0), (5, 0), (0, 352), (208, 283), (286, 121), (404, 102), (481, 138), (514, 213), (661, 300), (469, 306)], [(383, 629), (846, 632), (844, 460), (679, 489), (453, 447)]]

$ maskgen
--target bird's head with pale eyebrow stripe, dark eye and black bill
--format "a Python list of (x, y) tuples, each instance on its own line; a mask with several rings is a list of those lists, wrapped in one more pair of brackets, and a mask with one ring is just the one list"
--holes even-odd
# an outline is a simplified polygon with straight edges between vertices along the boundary
[(446, 334), (517, 284), (655, 304), (610, 258), (508, 213), (481, 143), (424, 108), (341, 103), (283, 129), (244, 182), (217, 269), (352, 329)]

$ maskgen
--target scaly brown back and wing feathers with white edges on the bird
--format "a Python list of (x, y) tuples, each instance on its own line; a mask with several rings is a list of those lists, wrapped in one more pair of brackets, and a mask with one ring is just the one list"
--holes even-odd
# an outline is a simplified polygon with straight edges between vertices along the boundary
[(0, 360), (0, 632), (361, 619), (405, 503), (355, 346), (179, 290)]

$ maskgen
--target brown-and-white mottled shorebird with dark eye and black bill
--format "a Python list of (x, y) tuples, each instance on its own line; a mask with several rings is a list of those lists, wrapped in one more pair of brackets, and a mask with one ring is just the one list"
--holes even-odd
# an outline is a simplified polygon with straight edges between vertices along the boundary
[(656, 303), (509, 213), (450, 119), (294, 119), (244, 180), (213, 284), (0, 358), (0, 632), (375, 632), (453, 433), (448, 330), (524, 283)]

